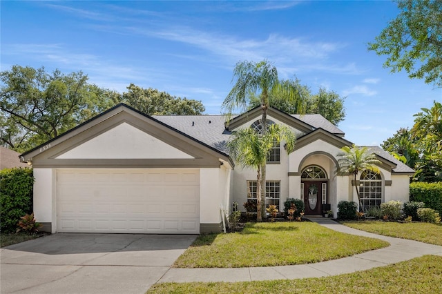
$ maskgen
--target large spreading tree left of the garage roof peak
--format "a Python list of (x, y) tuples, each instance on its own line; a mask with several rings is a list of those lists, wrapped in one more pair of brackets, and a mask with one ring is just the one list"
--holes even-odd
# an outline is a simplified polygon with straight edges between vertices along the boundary
[(51, 74), (12, 66), (0, 72), (2, 144), (24, 151), (115, 105), (111, 91), (87, 84), (83, 72)]

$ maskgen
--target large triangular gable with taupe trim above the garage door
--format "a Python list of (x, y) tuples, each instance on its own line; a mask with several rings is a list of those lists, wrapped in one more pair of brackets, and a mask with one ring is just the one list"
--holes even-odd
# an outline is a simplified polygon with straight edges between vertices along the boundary
[(231, 164), (225, 153), (124, 104), (23, 153), (21, 159), (31, 159), (35, 167), (214, 167), (220, 160)]

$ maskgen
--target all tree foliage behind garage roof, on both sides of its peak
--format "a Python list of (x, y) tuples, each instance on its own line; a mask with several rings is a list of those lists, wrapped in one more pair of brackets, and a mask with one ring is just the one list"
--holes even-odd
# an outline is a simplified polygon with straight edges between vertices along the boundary
[(201, 115), (201, 101), (133, 84), (128, 92), (88, 84), (83, 72), (12, 66), (0, 72), (0, 144), (24, 152), (124, 102), (148, 115)]

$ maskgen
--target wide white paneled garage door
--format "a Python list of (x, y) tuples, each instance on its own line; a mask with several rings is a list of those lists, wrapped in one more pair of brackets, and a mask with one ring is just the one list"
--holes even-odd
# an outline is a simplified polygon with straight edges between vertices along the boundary
[(199, 170), (57, 170), (57, 231), (199, 233)]

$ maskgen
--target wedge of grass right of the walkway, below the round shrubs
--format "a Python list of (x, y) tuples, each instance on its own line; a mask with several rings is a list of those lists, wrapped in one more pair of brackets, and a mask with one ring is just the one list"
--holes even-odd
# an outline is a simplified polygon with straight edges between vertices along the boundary
[(442, 226), (426, 222), (383, 222), (383, 221), (363, 221), (363, 222), (341, 222), (345, 226), (357, 228), (379, 235), (412, 239), (420, 242), (442, 246)]

